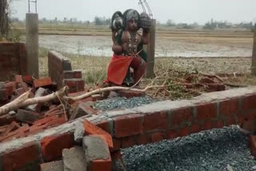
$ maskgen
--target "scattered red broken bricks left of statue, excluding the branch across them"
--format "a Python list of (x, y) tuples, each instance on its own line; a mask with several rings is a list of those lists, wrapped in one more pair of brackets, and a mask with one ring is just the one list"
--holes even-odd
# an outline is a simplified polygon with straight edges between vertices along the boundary
[[(0, 107), (14, 101), (22, 93), (30, 90), (30, 98), (42, 97), (57, 90), (57, 85), (51, 78), (34, 79), (31, 76), (16, 75), (14, 82), (0, 82)], [(86, 93), (70, 93), (69, 96), (78, 96)], [(94, 95), (81, 101), (75, 101), (69, 106), (60, 104), (60, 101), (49, 101), (44, 104), (29, 105), (11, 111), (0, 117), (0, 142), (10, 141), (19, 137), (27, 137), (51, 127), (62, 125), (66, 121), (74, 120), (85, 115), (92, 115), (98, 111), (92, 108), (93, 101), (101, 99)]]

